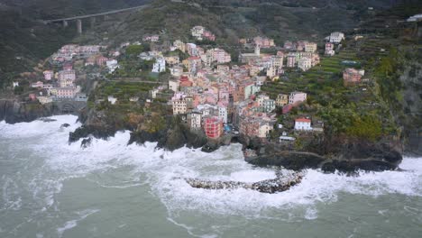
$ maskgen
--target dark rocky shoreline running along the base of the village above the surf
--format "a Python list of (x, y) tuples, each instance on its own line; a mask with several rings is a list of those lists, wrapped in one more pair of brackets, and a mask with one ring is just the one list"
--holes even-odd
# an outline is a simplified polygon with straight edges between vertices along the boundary
[[(40, 117), (60, 114), (54, 105), (37, 105), (19, 103), (12, 100), (0, 100), (0, 121), (8, 124), (31, 122)], [(78, 142), (81, 147), (89, 146), (92, 137), (104, 139), (114, 136), (120, 130), (130, 130), (131, 139), (128, 143), (143, 144), (157, 142), (158, 148), (174, 151), (184, 146), (201, 148), (202, 151), (216, 151), (220, 146), (232, 142), (240, 142), (243, 151), (255, 151), (254, 156), (245, 156), (245, 160), (257, 166), (279, 166), (286, 169), (322, 169), (326, 172), (353, 172), (359, 169), (382, 171), (398, 169), (402, 155), (399, 150), (382, 142), (342, 142), (327, 151), (291, 151), (274, 143), (262, 143), (250, 138), (237, 138), (227, 134), (218, 140), (209, 140), (201, 131), (190, 131), (178, 117), (166, 117), (166, 126), (154, 132), (133, 130), (130, 125), (116, 125), (113, 118), (104, 112), (82, 111), (79, 121), (84, 124), (75, 132), (69, 133), (69, 143)], [(324, 148), (321, 144), (319, 147)]]

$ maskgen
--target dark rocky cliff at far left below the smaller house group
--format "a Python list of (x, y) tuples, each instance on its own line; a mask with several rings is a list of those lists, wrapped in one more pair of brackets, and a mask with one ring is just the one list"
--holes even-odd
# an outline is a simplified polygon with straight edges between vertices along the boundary
[(24, 103), (14, 100), (0, 100), (0, 121), (7, 124), (32, 122), (40, 117), (60, 114), (57, 106), (38, 103)]

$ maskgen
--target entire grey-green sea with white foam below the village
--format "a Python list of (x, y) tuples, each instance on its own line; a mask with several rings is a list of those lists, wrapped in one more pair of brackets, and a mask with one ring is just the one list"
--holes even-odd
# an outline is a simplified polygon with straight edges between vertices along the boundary
[[(422, 237), (422, 158), (358, 177), (307, 170), (287, 192), (190, 188), (183, 178), (258, 181), (240, 145), (214, 153), (68, 143), (80, 124), (0, 123), (0, 237)], [(70, 127), (60, 128), (68, 123)]]

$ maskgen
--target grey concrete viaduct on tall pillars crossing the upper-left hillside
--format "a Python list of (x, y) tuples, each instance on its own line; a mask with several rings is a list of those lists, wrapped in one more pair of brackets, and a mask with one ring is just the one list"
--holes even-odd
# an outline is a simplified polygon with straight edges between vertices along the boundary
[(91, 27), (92, 27), (96, 23), (96, 17), (104, 16), (104, 19), (106, 19), (106, 17), (108, 15), (111, 15), (111, 14), (120, 14), (120, 13), (125, 13), (125, 12), (130, 12), (130, 11), (137, 11), (137, 10), (140, 10), (142, 8), (145, 8), (146, 6), (147, 5), (138, 5), (138, 6), (133, 6), (133, 7), (129, 7), (129, 8), (109, 11), (109, 12), (105, 12), (105, 13), (86, 14), (86, 15), (79, 15), (79, 16), (60, 18), (60, 19), (51, 19), (51, 20), (41, 20), (41, 22), (44, 23), (44, 24), (62, 23), (63, 27), (66, 28), (66, 27), (69, 26), (69, 22), (76, 21), (78, 33), (81, 34), (82, 33), (82, 20), (84, 20), (84, 19), (90, 19), (91, 20)]

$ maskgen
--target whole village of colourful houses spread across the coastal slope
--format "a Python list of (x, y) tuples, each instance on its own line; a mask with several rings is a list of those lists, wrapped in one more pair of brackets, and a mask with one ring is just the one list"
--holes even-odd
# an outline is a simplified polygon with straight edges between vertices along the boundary
[[(191, 29), (188, 37), (195, 42), (216, 41), (213, 32), (199, 25)], [(324, 121), (315, 114), (298, 114), (289, 122), (280, 120), (280, 114), (289, 114), (307, 103), (307, 92), (281, 91), (270, 96), (262, 92), (261, 87), (268, 82), (282, 81), (287, 71), (307, 72), (317, 67), (321, 54), (335, 56), (344, 39), (343, 32), (332, 32), (323, 42), (285, 41), (283, 46), (276, 46), (265, 36), (240, 39), (239, 43), (246, 52), (241, 52), (236, 62), (232, 61), (229, 52), (216, 47), (215, 43), (214, 47), (209, 47), (176, 40), (170, 45), (161, 45), (159, 34), (145, 35), (142, 41), (124, 42), (116, 48), (69, 44), (48, 59), (54, 69), (44, 70), (42, 80), (31, 84), (38, 93), (30, 94), (30, 100), (38, 100), (41, 104), (87, 102), (88, 92), (82, 92), (78, 85), (80, 78), (75, 66), (81, 74), (87, 68), (96, 69), (96, 73), (91, 74), (108, 80), (121, 69), (119, 57), (130, 47), (151, 43), (153, 49), (137, 55), (140, 61), (151, 62), (150, 68), (144, 70), (147, 71), (145, 75), (157, 78), (168, 73), (170, 78), (151, 88), (147, 104), (160, 95), (167, 95), (167, 101), (163, 103), (171, 107), (172, 114), (179, 115), (192, 132), (202, 131), (209, 139), (231, 134), (266, 141), (270, 140), (272, 132), (277, 131), (278, 142), (293, 143), (299, 136), (323, 133)], [(272, 54), (262, 52), (268, 49), (276, 51)], [(180, 55), (184, 55), (184, 59)], [(87, 77), (86, 73), (84, 77)], [(363, 69), (346, 68), (344, 86), (359, 84), (363, 77)], [(17, 86), (19, 83), (14, 82), (14, 87)], [(96, 102), (107, 101), (118, 106), (120, 100), (122, 98), (110, 94)], [(129, 100), (137, 103), (141, 99), (131, 96)], [(286, 127), (286, 123), (293, 126)]]

